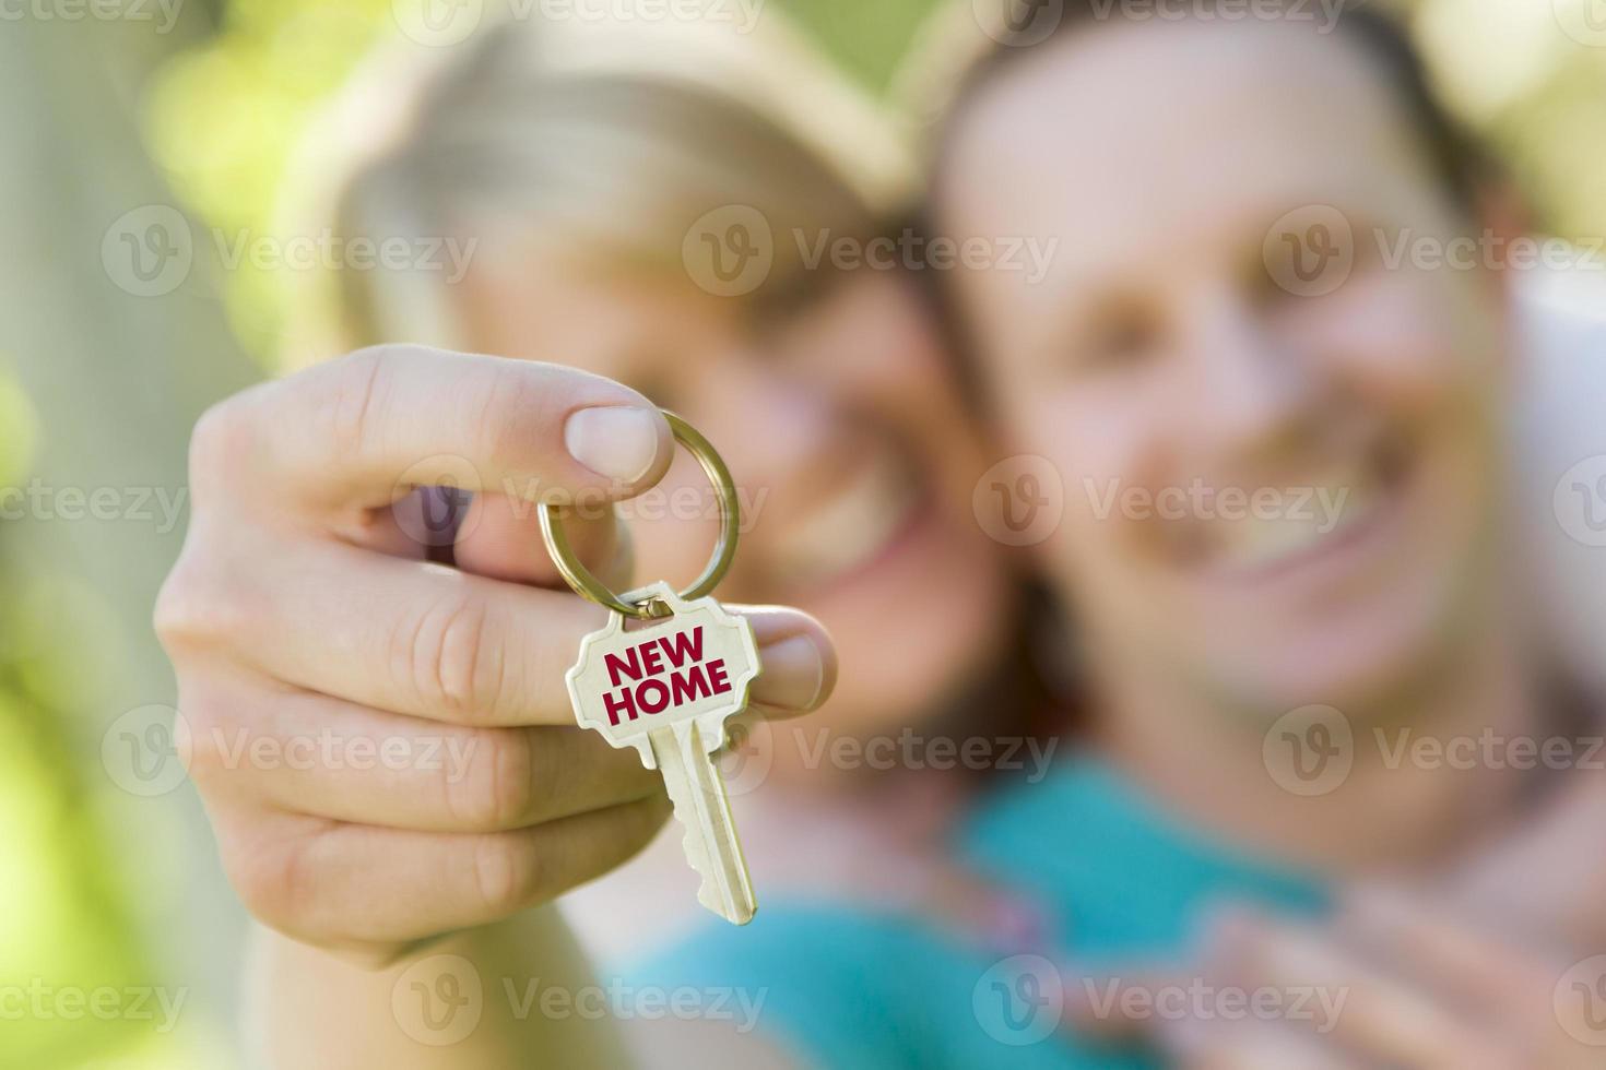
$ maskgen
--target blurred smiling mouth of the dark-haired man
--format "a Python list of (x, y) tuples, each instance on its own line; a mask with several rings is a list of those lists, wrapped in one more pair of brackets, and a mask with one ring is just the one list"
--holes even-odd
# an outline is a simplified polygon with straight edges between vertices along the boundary
[[(1336, 558), (1381, 529), (1405, 497), (1415, 451), (1380, 435), (1347, 459), (1275, 488), (1246, 491), (1243, 509), (1176, 525), (1185, 557), (1216, 578), (1254, 582)], [(1230, 513), (1230, 515), (1229, 515)]]

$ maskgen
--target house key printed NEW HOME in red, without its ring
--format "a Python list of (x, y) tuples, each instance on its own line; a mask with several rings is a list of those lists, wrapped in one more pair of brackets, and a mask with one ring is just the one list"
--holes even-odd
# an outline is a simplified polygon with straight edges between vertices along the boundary
[(649, 598), (670, 614), (625, 629), (623, 614), (612, 613), (581, 642), (565, 677), (569, 698), (581, 727), (615, 748), (636, 748), (642, 764), (658, 770), (686, 828), (686, 861), (702, 877), (697, 900), (745, 926), (758, 902), (713, 754), (758, 675), (753, 630), (713, 598), (687, 602), (668, 584), (623, 595), (626, 603)]

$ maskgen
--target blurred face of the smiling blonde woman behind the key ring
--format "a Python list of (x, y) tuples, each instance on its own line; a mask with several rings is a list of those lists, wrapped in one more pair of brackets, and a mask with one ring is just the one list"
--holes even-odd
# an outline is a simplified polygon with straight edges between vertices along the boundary
[[(980, 449), (907, 284), (864, 271), (784, 322), (689, 279), (532, 249), (466, 284), (474, 348), (636, 387), (721, 451), (744, 505), (718, 597), (816, 614), (840, 675), (811, 723), (877, 733), (935, 709), (999, 655), (1009, 582), (970, 512)], [(620, 509), (636, 576), (686, 586), (718, 510), (684, 451)]]

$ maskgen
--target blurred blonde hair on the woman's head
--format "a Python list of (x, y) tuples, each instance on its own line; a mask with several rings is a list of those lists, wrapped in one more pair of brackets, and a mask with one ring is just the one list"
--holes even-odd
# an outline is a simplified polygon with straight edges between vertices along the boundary
[[(793, 233), (874, 237), (911, 189), (903, 132), (768, 10), (750, 34), (708, 19), (509, 19), (456, 48), (390, 47), (297, 170), (302, 217), (310, 207), (337, 241), (541, 233), (655, 270), (684, 270), (689, 228), (745, 205), (774, 234), (768, 295), (805, 278)], [(438, 268), (337, 258), (297, 284), (291, 366), (461, 338)]]

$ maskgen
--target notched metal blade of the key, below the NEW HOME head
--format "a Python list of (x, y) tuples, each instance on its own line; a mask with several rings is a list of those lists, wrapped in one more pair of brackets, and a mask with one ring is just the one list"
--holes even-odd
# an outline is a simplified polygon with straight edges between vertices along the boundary
[(697, 900), (736, 926), (758, 910), (747, 860), (736, 837), (724, 776), (703, 749), (695, 720), (660, 728), (649, 736), (675, 818), (686, 828), (686, 861), (702, 876)]

